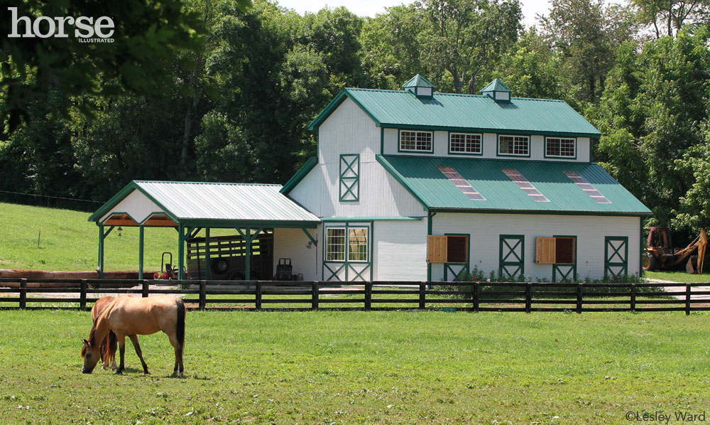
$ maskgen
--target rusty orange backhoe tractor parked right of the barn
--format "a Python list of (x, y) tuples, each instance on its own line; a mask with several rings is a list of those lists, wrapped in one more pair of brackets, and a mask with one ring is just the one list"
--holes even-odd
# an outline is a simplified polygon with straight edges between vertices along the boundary
[(648, 244), (643, 257), (643, 269), (646, 271), (672, 269), (688, 260), (685, 269), (688, 273), (702, 274), (705, 248), (708, 238), (705, 230), (701, 230), (687, 247), (672, 248), (670, 229), (668, 227), (648, 227)]

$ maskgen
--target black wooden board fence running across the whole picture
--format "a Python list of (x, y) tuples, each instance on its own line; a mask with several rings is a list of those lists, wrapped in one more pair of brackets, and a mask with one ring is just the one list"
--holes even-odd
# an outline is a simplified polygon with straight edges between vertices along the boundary
[[(87, 310), (100, 296), (182, 296), (189, 309), (246, 311), (710, 311), (710, 284), (0, 279), (0, 309)], [(660, 288), (672, 291), (661, 291)]]

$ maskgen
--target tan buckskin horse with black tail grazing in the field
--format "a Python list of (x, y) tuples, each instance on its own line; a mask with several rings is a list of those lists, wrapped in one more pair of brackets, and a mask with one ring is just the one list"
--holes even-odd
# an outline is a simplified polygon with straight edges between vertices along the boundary
[(141, 346), (138, 345), (136, 335), (150, 335), (160, 330), (165, 332), (170, 338), (170, 344), (175, 348), (175, 369), (173, 375), (178, 374), (185, 377), (182, 370), (182, 348), (185, 345), (185, 303), (180, 298), (173, 296), (151, 296), (148, 298), (134, 298), (132, 296), (119, 296), (109, 304), (104, 311), (99, 313), (89, 340), (84, 340), (82, 357), (84, 357), (84, 367), (82, 372), (91, 373), (99, 361), (99, 345), (106, 338), (109, 331), (116, 333), (119, 342), (119, 352), (121, 353), (121, 363), (116, 374), (124, 371), (124, 353), (126, 349), (126, 336), (131, 338), (133, 348), (141, 359), (143, 372), (148, 374), (148, 365), (143, 360)]

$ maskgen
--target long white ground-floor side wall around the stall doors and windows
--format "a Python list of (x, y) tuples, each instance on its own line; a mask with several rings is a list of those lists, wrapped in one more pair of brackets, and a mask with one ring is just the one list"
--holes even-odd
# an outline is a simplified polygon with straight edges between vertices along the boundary
[[(525, 276), (551, 279), (552, 265), (535, 264), (535, 238), (577, 236), (577, 277), (601, 279), (606, 236), (628, 237), (628, 274), (639, 273), (639, 217), (442, 213), (433, 217), (432, 234), (469, 233), (471, 269), (498, 271), (500, 235), (525, 235)], [(432, 280), (443, 278), (432, 265)], [(449, 275), (449, 280), (452, 276)]]

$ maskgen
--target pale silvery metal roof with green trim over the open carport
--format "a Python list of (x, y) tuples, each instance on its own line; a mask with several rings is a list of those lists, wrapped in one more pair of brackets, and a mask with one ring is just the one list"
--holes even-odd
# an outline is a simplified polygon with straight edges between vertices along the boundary
[(97, 222), (139, 190), (175, 222), (314, 224), (320, 218), (279, 193), (281, 185), (132, 181), (89, 217)]

